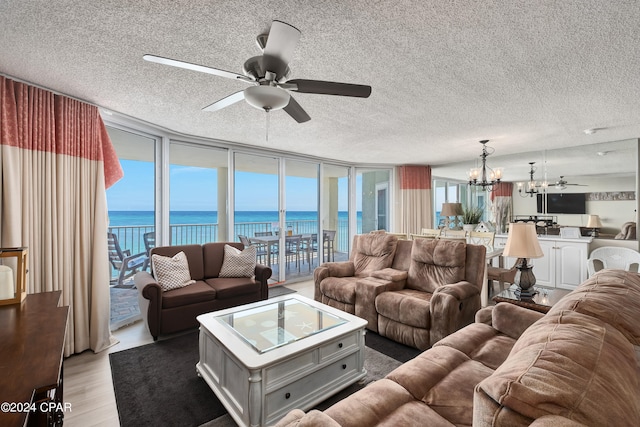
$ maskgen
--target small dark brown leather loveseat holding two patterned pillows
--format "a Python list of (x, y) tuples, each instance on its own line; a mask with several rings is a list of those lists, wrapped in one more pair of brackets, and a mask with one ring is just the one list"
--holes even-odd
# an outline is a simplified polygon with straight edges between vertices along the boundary
[(161, 246), (150, 251), (150, 257), (154, 254), (173, 257), (184, 252), (191, 279), (195, 280), (189, 286), (163, 291), (152, 274), (146, 271), (136, 274), (140, 313), (154, 340), (161, 334), (197, 327), (196, 316), (200, 314), (268, 298), (271, 268), (267, 266), (256, 264), (255, 278), (219, 277), (225, 245), (244, 249), (239, 242), (215, 242)]

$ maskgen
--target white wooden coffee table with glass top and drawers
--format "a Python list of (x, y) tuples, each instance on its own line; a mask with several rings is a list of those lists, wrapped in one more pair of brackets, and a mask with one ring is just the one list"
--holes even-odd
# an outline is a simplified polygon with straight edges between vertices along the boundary
[(275, 424), (366, 375), (366, 320), (297, 294), (198, 321), (196, 369), (240, 426)]

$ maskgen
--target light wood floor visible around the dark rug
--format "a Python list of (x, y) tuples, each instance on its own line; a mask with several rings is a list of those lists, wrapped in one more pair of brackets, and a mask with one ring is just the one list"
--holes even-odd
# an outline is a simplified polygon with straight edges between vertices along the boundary
[[(286, 286), (313, 298), (313, 281)], [(71, 412), (64, 416), (65, 426), (120, 426), (109, 353), (152, 343), (153, 338), (141, 321), (118, 329), (113, 335), (120, 342), (109, 350), (98, 354), (85, 351), (64, 361), (64, 401), (71, 404)]]

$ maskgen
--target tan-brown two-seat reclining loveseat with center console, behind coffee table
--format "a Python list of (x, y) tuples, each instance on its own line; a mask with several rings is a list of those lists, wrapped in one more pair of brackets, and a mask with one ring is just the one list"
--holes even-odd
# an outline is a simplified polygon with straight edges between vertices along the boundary
[(357, 235), (349, 261), (314, 271), (315, 299), (366, 319), (371, 331), (424, 350), (473, 322), (485, 252), (462, 241)]

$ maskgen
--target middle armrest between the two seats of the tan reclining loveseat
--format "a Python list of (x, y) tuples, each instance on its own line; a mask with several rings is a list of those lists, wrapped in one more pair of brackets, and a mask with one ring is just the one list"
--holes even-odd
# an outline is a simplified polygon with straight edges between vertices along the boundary
[[(387, 268), (385, 270), (393, 269)], [(404, 288), (407, 282), (406, 274), (404, 276), (395, 276), (391, 274), (391, 276), (394, 276), (396, 278), (404, 277), (404, 279), (392, 281), (378, 278), (376, 276), (376, 273), (377, 272), (374, 272), (369, 277), (358, 279), (358, 281), (356, 282), (355, 315), (362, 319), (365, 319), (368, 322), (367, 329), (373, 332), (378, 332), (378, 311), (376, 310), (376, 298), (378, 297), (378, 295), (388, 291), (399, 291), (400, 289)], [(390, 277), (389, 274), (382, 274), (382, 276)]]

